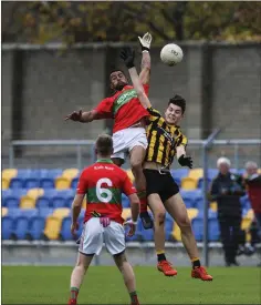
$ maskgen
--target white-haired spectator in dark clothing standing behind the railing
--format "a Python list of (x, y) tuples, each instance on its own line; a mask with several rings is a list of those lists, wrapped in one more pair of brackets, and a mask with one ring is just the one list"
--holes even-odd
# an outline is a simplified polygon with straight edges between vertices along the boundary
[(239, 237), (241, 232), (241, 203), (240, 197), (244, 194), (241, 177), (230, 172), (230, 160), (220, 157), (217, 161), (219, 174), (211, 185), (211, 200), (218, 204), (218, 220), (221, 241), (225, 251), (227, 266), (236, 265)]

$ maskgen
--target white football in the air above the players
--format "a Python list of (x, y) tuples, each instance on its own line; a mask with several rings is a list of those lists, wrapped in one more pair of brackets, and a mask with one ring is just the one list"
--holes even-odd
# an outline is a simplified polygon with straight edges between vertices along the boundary
[(168, 65), (175, 65), (179, 63), (184, 58), (182, 49), (175, 44), (168, 43), (160, 51), (160, 59)]

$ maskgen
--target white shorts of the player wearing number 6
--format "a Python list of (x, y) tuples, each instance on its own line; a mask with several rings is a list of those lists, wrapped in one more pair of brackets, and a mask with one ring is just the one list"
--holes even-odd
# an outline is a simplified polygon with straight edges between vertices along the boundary
[(103, 243), (112, 254), (125, 251), (125, 232), (122, 224), (111, 221), (107, 227), (103, 227), (98, 217), (93, 217), (84, 224), (79, 252), (83, 254), (98, 255)]

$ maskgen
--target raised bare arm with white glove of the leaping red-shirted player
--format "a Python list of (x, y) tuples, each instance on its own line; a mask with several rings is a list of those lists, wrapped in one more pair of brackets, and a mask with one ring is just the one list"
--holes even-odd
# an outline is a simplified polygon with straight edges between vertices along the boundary
[(138, 37), (139, 43), (142, 45), (142, 64), (140, 64), (140, 73), (139, 79), (143, 84), (148, 84), (150, 79), (150, 43), (153, 40), (153, 37), (150, 33), (146, 33), (143, 38)]

